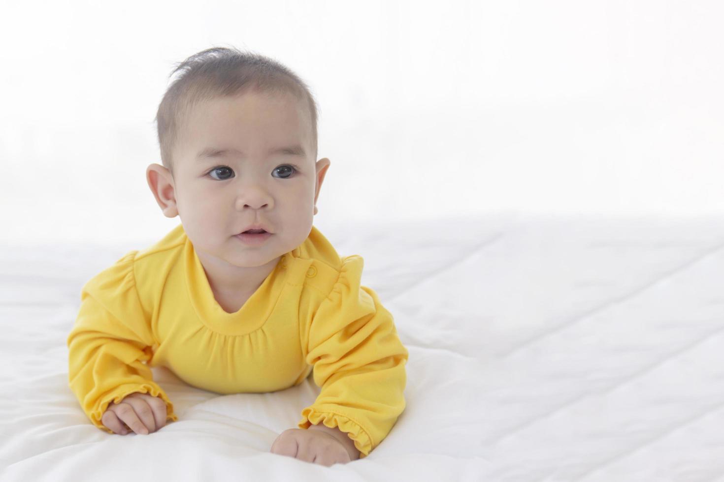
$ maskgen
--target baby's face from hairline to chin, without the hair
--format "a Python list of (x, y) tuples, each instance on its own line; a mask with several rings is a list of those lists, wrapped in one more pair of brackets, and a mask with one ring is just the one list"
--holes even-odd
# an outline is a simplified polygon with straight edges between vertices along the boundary
[[(194, 248), (256, 267), (302, 244), (329, 164), (314, 162), (311, 135), (308, 108), (291, 94), (250, 91), (195, 106), (174, 150), (177, 210)], [(271, 236), (261, 244), (235, 236), (254, 224)]]

